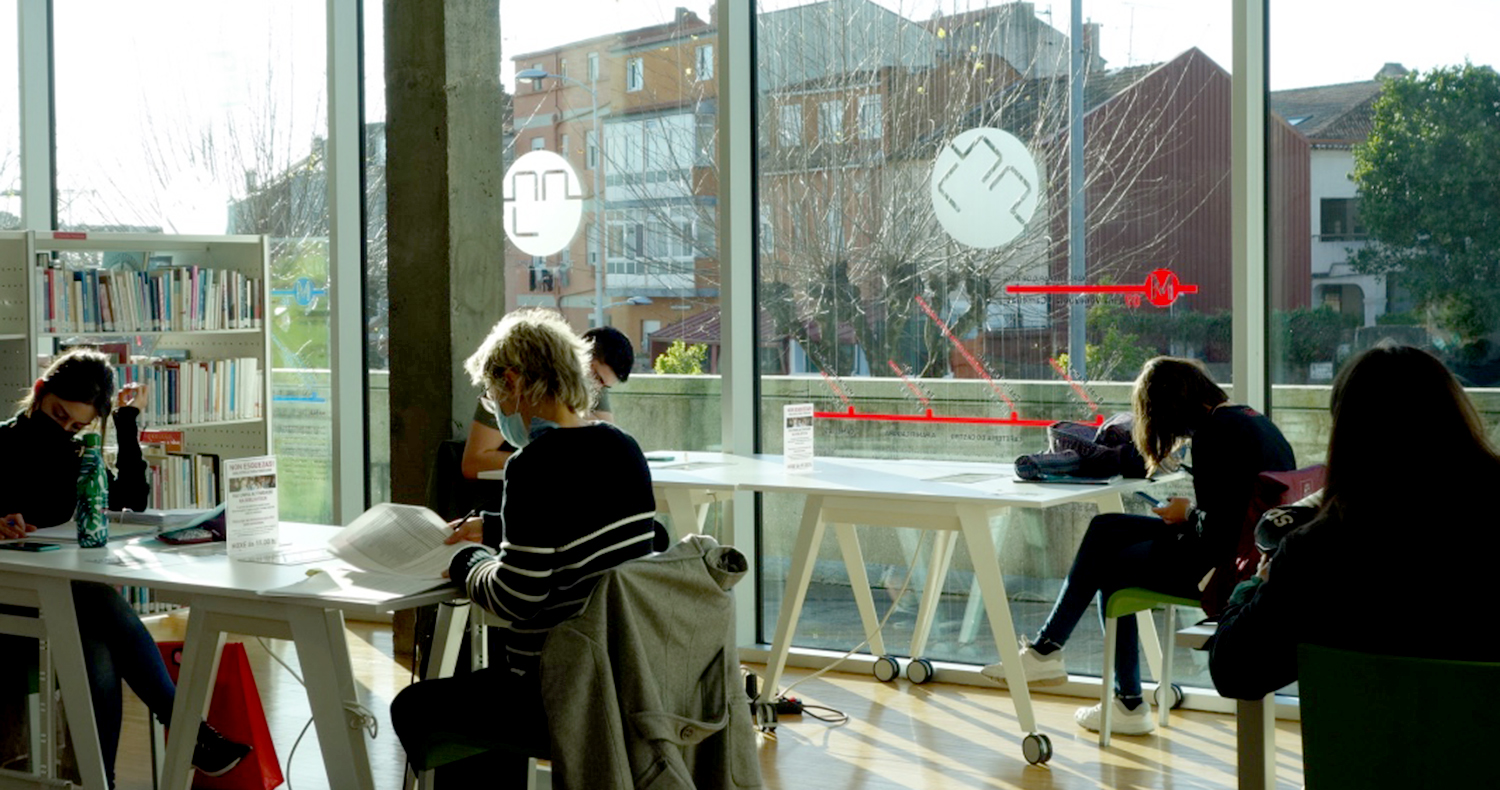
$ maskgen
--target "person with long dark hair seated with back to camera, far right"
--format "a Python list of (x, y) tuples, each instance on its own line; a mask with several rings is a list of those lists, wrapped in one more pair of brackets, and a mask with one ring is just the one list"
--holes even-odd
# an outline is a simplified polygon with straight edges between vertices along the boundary
[(1484, 498), (1500, 454), (1462, 385), (1431, 354), (1382, 343), (1344, 364), (1330, 411), (1318, 514), (1234, 588), (1209, 642), (1226, 697), (1296, 681), (1302, 642), (1500, 661), (1497, 643), (1466, 636), (1486, 622), (1500, 555)]

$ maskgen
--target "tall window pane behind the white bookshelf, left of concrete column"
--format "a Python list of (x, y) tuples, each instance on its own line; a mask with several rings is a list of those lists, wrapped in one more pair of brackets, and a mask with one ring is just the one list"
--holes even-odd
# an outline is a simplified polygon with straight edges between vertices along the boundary
[(52, 9), (60, 228), (270, 237), (282, 516), (327, 523), (326, 9)]

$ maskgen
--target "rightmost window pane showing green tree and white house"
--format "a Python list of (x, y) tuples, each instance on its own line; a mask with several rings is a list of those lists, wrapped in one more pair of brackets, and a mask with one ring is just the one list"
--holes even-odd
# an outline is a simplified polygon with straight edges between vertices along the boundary
[(1270, 9), (1272, 415), (1302, 463), (1324, 457), (1334, 376), (1384, 339), (1438, 355), (1491, 426), (1500, 411), (1500, 232), (1480, 208), (1500, 193), (1500, 7), (1360, 9)]

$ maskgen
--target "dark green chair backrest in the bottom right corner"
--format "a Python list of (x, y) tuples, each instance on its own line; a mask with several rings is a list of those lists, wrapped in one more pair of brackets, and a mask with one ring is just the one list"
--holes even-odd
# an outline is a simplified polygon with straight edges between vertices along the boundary
[(1496, 783), (1500, 664), (1300, 645), (1298, 687), (1308, 787)]

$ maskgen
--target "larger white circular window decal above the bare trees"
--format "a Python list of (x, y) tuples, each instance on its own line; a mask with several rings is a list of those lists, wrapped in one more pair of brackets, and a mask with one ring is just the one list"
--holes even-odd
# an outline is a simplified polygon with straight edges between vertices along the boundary
[(938, 222), (970, 247), (999, 247), (1022, 235), (1040, 192), (1026, 144), (999, 129), (969, 129), (944, 145), (933, 165)]

